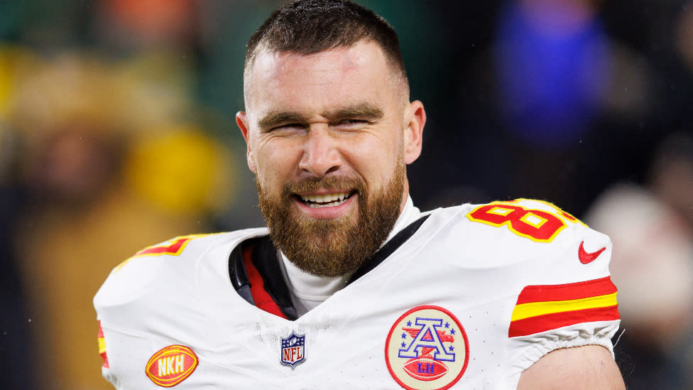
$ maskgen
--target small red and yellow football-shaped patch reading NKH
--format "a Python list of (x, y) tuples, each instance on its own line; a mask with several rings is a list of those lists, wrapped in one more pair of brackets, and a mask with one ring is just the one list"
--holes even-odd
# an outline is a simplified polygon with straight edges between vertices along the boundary
[(147, 362), (147, 377), (162, 387), (171, 387), (190, 377), (197, 368), (197, 355), (185, 345), (169, 345)]

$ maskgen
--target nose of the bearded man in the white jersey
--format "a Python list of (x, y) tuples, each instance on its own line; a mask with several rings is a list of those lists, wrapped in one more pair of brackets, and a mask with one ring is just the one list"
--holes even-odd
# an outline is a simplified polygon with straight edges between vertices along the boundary
[(337, 147), (337, 139), (329, 133), (328, 127), (322, 124), (310, 126), (298, 167), (306, 173), (322, 177), (339, 170), (341, 165), (342, 155)]

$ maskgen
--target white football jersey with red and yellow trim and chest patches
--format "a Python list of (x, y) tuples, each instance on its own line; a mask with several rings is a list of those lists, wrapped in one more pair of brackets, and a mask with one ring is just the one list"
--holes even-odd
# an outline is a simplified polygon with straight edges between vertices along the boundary
[[(267, 229), (138, 252), (94, 298), (104, 377), (128, 390), (515, 389), (552, 350), (612, 350), (619, 319), (604, 234), (535, 200), (421, 221), (294, 320), (262, 308), (285, 306), (269, 286), (276, 276), (233, 261)], [(252, 298), (237, 291), (239, 264)]]

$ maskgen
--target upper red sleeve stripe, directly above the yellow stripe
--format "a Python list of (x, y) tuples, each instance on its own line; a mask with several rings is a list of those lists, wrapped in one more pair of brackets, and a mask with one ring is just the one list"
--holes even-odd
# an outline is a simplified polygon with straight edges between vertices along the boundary
[(579, 283), (527, 286), (523, 288), (520, 296), (518, 296), (517, 304), (546, 302), (549, 300), (591, 298), (593, 296), (604, 296), (611, 293), (616, 293), (616, 286), (611, 282), (611, 278), (606, 276), (606, 278)]

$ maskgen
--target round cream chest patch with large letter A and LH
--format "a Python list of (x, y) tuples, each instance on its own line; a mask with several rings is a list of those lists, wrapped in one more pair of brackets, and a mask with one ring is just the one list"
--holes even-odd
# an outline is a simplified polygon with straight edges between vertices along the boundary
[(469, 363), (469, 340), (449, 310), (417, 306), (392, 325), (385, 361), (405, 389), (444, 390), (462, 378)]

